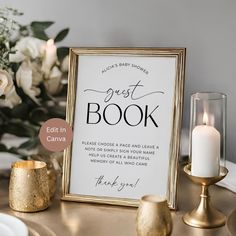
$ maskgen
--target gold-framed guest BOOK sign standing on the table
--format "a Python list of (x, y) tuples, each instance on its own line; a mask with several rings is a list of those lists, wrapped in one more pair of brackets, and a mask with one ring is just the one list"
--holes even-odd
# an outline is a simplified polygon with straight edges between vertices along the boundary
[(63, 200), (176, 208), (184, 48), (71, 48)]

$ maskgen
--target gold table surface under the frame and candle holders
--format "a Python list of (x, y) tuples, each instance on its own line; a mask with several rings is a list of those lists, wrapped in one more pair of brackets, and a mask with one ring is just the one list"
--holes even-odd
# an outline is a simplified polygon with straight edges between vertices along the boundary
[[(225, 226), (198, 229), (183, 223), (183, 214), (198, 204), (200, 187), (192, 184), (182, 171), (178, 185), (178, 211), (172, 212), (172, 236), (227, 236)], [(236, 208), (236, 194), (217, 186), (212, 186), (210, 193), (214, 206), (227, 216)], [(45, 211), (19, 213), (8, 206), (8, 181), (0, 180), (0, 212), (40, 224), (52, 236), (135, 236), (136, 211), (136, 208), (64, 202), (57, 197)]]

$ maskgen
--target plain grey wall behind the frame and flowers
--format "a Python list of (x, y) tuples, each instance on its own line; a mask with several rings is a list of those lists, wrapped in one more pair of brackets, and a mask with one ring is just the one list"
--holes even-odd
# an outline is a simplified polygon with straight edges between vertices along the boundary
[(0, 0), (22, 23), (53, 20), (51, 37), (70, 27), (65, 46), (186, 47), (184, 127), (190, 94), (228, 95), (227, 159), (236, 162), (235, 0)]

